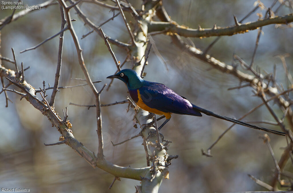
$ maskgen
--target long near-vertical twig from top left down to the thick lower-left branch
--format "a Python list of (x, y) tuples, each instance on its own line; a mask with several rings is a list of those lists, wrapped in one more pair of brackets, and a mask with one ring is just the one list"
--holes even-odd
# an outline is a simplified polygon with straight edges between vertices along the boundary
[[(76, 2), (76, 3), (79, 3), (79, 2)], [(62, 31), (65, 28), (66, 20), (64, 16), (63, 6), (61, 4), (59, 4), (59, 8), (61, 13), (61, 31)], [(56, 74), (55, 74), (54, 87), (53, 87), (53, 91), (52, 91), (51, 99), (49, 103), (50, 106), (54, 106), (55, 97), (58, 91), (59, 78), (60, 78), (60, 72), (61, 72), (61, 63), (62, 63), (63, 39), (64, 39), (64, 31), (60, 33), (60, 36), (59, 36), (58, 62), (57, 62), (57, 68), (56, 68)]]

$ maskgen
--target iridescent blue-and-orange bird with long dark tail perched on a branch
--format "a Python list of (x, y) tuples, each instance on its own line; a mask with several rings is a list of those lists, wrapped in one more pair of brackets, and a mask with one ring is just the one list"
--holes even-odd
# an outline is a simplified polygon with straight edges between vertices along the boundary
[(274, 133), (276, 135), (286, 136), (286, 133), (245, 123), (196, 106), (190, 103), (185, 97), (180, 96), (166, 87), (166, 85), (142, 79), (137, 72), (132, 69), (123, 69), (115, 75), (108, 76), (107, 78), (117, 78), (122, 80), (126, 84), (132, 100), (141, 109), (166, 117), (166, 121), (163, 122), (158, 130), (160, 130), (171, 119), (172, 113), (198, 117), (201, 117), (203, 113), (239, 125)]

